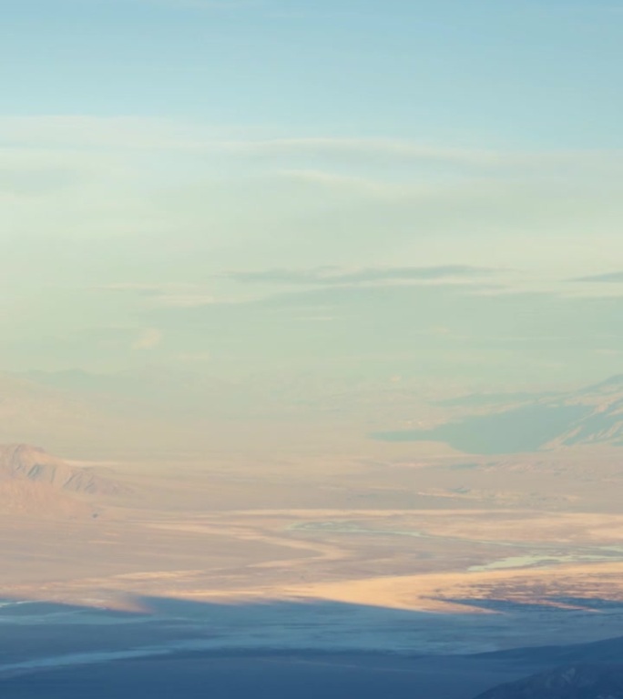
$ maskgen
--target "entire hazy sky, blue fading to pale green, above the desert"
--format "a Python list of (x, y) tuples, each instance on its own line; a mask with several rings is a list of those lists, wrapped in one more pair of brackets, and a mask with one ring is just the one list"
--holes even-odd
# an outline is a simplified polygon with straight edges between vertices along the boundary
[(623, 370), (616, 0), (21, 0), (0, 370)]

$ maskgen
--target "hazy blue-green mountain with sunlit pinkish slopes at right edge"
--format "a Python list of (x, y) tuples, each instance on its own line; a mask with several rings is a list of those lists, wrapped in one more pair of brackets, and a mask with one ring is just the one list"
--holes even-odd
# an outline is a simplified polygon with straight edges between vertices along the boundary
[(383, 441), (442, 441), (458, 451), (479, 454), (623, 446), (623, 374), (582, 390), (475, 394), (444, 405), (449, 418), (443, 423), (371, 436)]

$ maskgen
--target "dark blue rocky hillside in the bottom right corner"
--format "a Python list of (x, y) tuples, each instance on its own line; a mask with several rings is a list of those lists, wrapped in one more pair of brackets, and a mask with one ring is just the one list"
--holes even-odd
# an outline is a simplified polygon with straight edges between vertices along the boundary
[(571, 665), (502, 684), (475, 699), (623, 699), (623, 665)]

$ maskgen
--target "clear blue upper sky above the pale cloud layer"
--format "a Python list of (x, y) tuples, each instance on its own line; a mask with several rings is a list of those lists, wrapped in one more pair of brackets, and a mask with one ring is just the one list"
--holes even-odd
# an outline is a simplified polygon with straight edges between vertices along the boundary
[(598, 0), (24, 0), (3, 15), (5, 109), (615, 147), (621, 9)]

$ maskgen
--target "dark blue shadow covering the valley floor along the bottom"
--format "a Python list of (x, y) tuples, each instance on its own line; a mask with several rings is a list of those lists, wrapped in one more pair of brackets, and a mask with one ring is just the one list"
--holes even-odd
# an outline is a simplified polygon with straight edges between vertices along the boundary
[[(593, 613), (608, 605), (590, 603)], [(144, 596), (128, 597), (117, 609), (93, 605), (0, 600), (3, 699), (471, 699), (547, 666), (623, 650), (623, 639), (613, 639), (456, 654), (453, 641), (465, 651), (482, 647), (476, 636), (485, 631), (468, 623), (473, 614), (317, 600), (230, 604)], [(551, 609), (486, 606), (495, 607), (487, 615), (492, 620), (511, 622)], [(437, 643), (425, 643), (435, 633)]]

